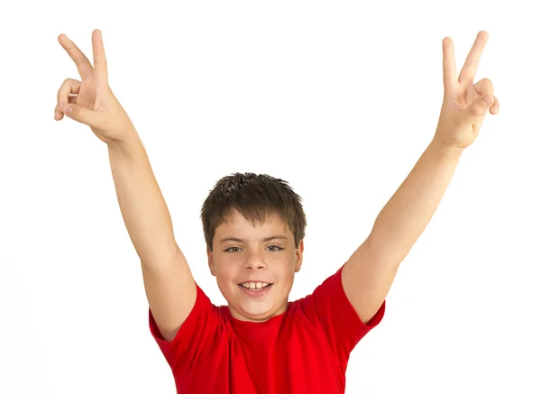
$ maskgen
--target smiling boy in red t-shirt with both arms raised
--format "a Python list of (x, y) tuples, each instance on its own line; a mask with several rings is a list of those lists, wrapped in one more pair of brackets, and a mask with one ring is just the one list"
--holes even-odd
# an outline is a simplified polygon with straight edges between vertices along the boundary
[(124, 223), (141, 259), (151, 334), (179, 393), (344, 393), (349, 354), (380, 323), (399, 263), (436, 211), (487, 110), (499, 111), (491, 81), (473, 84), (487, 40), (486, 32), (477, 35), (457, 75), (453, 42), (445, 38), (445, 96), (433, 141), (368, 238), (306, 298), (288, 301), (304, 251), (300, 197), (267, 175), (220, 179), (201, 212), (209, 269), (227, 300), (215, 307), (190, 273), (142, 142), (108, 86), (101, 32), (92, 34), (94, 67), (59, 36), (81, 81), (62, 84), (55, 119), (87, 124), (107, 144)]

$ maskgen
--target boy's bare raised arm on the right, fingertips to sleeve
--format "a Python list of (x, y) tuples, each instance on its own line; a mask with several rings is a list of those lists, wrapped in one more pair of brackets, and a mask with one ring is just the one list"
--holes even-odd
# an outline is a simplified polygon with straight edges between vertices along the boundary
[(487, 110), (492, 115), (499, 111), (491, 81), (485, 78), (473, 84), (487, 40), (487, 32), (479, 32), (460, 76), (453, 41), (443, 41), (445, 95), (434, 139), (381, 210), (371, 234), (344, 265), (344, 292), (364, 323), (387, 297), (400, 262), (436, 212)]

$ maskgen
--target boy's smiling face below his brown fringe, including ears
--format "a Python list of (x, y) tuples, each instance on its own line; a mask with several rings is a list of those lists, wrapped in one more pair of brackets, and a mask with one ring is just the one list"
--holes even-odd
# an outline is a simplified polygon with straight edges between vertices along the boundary
[(218, 226), (208, 265), (234, 318), (261, 322), (288, 307), (304, 243), (295, 248), (293, 233), (279, 217), (252, 225), (234, 211)]

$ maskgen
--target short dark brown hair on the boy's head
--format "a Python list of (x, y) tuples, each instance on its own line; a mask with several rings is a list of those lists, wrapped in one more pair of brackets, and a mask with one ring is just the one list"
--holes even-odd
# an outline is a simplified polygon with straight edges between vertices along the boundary
[(282, 179), (252, 172), (225, 176), (216, 182), (201, 208), (206, 246), (212, 252), (216, 228), (236, 210), (252, 224), (264, 223), (269, 215), (277, 215), (289, 226), (298, 248), (307, 226), (301, 201)]

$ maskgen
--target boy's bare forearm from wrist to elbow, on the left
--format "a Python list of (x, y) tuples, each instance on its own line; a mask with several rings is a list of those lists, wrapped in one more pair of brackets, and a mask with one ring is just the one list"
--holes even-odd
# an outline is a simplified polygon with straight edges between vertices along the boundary
[(108, 145), (116, 197), (142, 263), (170, 260), (177, 252), (170, 213), (137, 133)]

